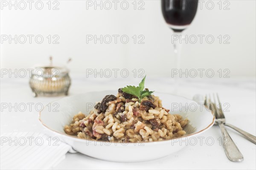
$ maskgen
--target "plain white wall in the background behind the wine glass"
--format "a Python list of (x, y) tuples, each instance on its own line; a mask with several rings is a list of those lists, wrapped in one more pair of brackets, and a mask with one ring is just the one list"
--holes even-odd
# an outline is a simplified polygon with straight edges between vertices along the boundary
[[(5, 1), (9, 3), (9, 1)], [(19, 1), (17, 1), (18, 3)], [(25, 1), (26, 2), (26, 1)], [(31, 68), (48, 62), (50, 55), (55, 65), (69, 64), (72, 73), (85, 71), (86, 68), (142, 68), (151, 76), (170, 75), (174, 67), (172, 34), (166, 26), (160, 8), (160, 0), (144, 0), (144, 10), (134, 10), (133, 0), (128, 0), (129, 8), (123, 10), (120, 3), (117, 10), (114, 3), (110, 10), (86, 6), (82, 0), (58, 0), (59, 10), (49, 10), (48, 0), (43, 1), (44, 8), (38, 10), (29, 3), (24, 10), (8, 6), (1, 1), (0, 34), (42, 35), (44, 42), (38, 44), (35, 38), (24, 44), (8, 40), (0, 44), (1, 68)], [(94, 1), (92, 1), (94, 3)], [(102, 1), (104, 2), (104, 1)], [(112, 1), (111, 1), (112, 2)], [(121, 1), (119, 1), (121, 2)], [(256, 1), (228, 0), (221, 2), (212, 0), (214, 8), (207, 9), (205, 1), (195, 16), (192, 25), (184, 31), (185, 35), (212, 35), (212, 44), (206, 42), (183, 45), (183, 68), (229, 69), (230, 76), (255, 76), (256, 74)], [(15, 1), (12, 1), (15, 3)], [(52, 1), (53, 3), (53, 1)], [(98, 1), (99, 3), (99, 1)], [(57, 3), (52, 4), (51, 8)], [(224, 10), (224, 6), (229, 10)], [(23, 8), (23, 4), (20, 3)], [(40, 5), (38, 4), (40, 7)], [(137, 1), (137, 7), (138, 7)], [(87, 9), (88, 7), (88, 9)], [(211, 4), (208, 3), (208, 8)], [(100, 44), (97, 41), (86, 43), (86, 35), (127, 35), (130, 40), (122, 44)], [(47, 36), (58, 35), (59, 44), (49, 44)], [(143, 35), (144, 44), (134, 44), (132, 37)], [(219, 35), (228, 35), (230, 44), (220, 44)], [(225, 40), (224, 38), (222, 40)], [(23, 41), (23, 40), (22, 40)]]

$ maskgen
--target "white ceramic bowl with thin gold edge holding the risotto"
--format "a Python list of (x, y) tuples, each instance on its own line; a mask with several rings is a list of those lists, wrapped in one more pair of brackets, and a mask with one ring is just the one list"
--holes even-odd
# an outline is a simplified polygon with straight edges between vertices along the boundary
[[(184, 119), (189, 119), (189, 124), (184, 129), (187, 132), (185, 136), (160, 142), (110, 143), (79, 139), (64, 132), (64, 125), (70, 124), (75, 114), (79, 111), (84, 114), (89, 113), (92, 109), (91, 104), (101, 101), (107, 94), (115, 95), (116, 93), (116, 91), (101, 91), (64, 97), (52, 102), (52, 109), (49, 109), (49, 105), (45, 107), (39, 113), (39, 120), (51, 132), (51, 135), (58, 136), (61, 141), (70, 144), (74, 150), (97, 159), (119, 162), (148, 161), (175, 153), (186, 146), (186, 142), (180, 142), (180, 140), (189, 140), (205, 132), (212, 127), (215, 121), (212, 112), (192, 100), (170, 94), (154, 93), (162, 99), (163, 107), (171, 110), (169, 113), (180, 114)], [(58, 108), (54, 111), (53, 108), (57, 107), (56, 103), (58, 103)], [(175, 108), (173, 111), (172, 105)], [(187, 111), (185, 108), (180, 111), (180, 106), (185, 105), (187, 105)], [(197, 108), (193, 111), (195, 106)]]

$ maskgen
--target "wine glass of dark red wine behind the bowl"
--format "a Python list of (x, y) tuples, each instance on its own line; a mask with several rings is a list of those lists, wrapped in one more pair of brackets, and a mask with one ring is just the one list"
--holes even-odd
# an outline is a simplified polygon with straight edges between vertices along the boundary
[[(178, 36), (178, 40), (174, 41), (175, 65), (180, 71), (180, 50), (182, 31), (185, 30), (195, 17), (198, 0), (161, 0), (163, 17), (174, 33)], [(177, 38), (177, 37), (176, 37)], [(177, 89), (178, 82), (175, 81)]]

